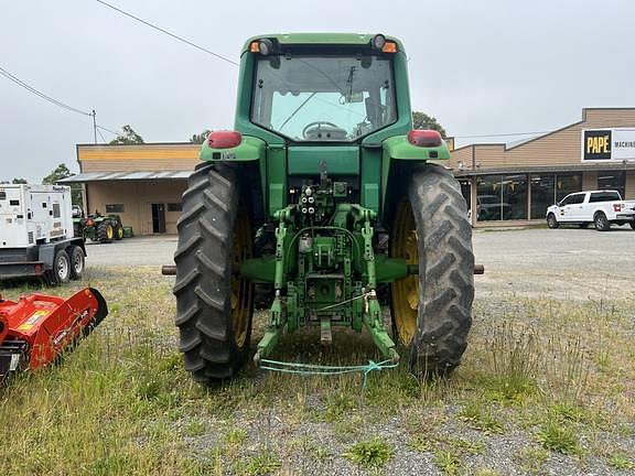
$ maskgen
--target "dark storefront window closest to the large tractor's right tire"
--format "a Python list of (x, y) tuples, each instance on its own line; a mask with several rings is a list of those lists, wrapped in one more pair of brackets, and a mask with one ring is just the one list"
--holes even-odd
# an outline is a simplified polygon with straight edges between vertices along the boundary
[(484, 175), (476, 190), (478, 220), (527, 218), (527, 175)]

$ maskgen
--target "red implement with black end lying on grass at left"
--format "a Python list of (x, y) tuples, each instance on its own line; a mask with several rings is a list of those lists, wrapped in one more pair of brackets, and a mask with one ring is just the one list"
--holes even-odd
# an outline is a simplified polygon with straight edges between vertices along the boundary
[(67, 300), (46, 294), (0, 299), (0, 381), (20, 369), (54, 361), (108, 314), (99, 291), (86, 288)]

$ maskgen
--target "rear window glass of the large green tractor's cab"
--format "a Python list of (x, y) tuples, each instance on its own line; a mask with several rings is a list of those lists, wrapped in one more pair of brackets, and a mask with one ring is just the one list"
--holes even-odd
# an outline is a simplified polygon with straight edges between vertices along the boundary
[(354, 141), (397, 120), (389, 58), (258, 60), (251, 121), (295, 141)]

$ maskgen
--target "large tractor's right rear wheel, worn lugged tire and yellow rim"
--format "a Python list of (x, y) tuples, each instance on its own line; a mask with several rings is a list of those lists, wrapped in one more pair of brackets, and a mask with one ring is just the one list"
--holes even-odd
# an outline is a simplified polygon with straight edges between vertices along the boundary
[(459, 366), (472, 326), (474, 255), (465, 199), (449, 171), (428, 165), (411, 175), (396, 212), (391, 255), (419, 264), (419, 277), (391, 285), (395, 331), (415, 372), (446, 376)]

